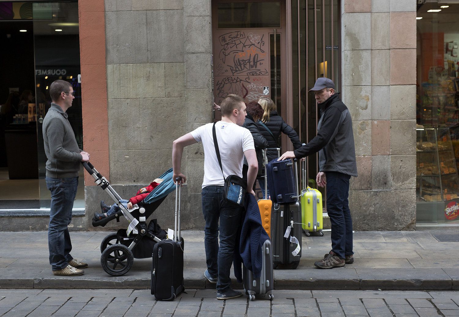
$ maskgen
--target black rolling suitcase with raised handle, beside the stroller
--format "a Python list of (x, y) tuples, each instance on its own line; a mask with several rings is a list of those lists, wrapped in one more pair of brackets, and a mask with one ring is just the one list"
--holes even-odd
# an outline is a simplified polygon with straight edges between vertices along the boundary
[[(153, 248), (151, 266), (151, 295), (157, 300), (174, 300), (185, 290), (183, 285), (183, 248), (180, 238), (180, 180), (175, 189), (174, 239), (164, 239)], [(170, 237), (169, 237), (170, 238)]]

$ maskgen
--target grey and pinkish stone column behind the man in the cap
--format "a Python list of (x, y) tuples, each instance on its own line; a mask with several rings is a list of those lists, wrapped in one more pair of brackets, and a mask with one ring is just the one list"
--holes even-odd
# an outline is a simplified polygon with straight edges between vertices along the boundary
[(342, 99), (353, 117), (357, 230), (416, 220), (416, 1), (341, 2)]

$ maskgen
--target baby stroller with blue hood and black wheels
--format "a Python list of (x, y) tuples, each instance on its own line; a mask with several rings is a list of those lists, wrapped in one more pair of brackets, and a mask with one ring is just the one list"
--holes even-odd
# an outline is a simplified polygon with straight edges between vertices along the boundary
[(120, 202), (122, 198), (106, 178), (97, 172), (90, 162), (83, 162), (83, 166), (94, 177), (95, 184), (101, 186), (120, 208), (118, 212), (104, 219), (93, 218), (92, 225), (105, 227), (113, 219), (119, 222), (120, 216), (124, 216), (129, 221), (127, 229), (119, 229), (117, 233), (107, 235), (101, 242), (101, 265), (104, 271), (112, 276), (124, 275), (132, 267), (134, 257), (137, 259), (151, 257), (153, 246), (166, 237), (166, 232), (157, 224), (156, 219), (151, 220), (148, 225), (146, 219), (161, 205), (166, 196), (174, 191), (173, 170), (170, 168), (162, 174), (160, 176), (163, 179), (162, 183), (138, 203), (136, 209), (129, 212)]

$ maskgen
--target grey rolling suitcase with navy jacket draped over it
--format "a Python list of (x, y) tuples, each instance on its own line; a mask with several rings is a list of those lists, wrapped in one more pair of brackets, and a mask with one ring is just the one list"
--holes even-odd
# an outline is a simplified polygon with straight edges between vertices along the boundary
[(250, 300), (255, 300), (255, 295), (267, 295), (269, 300), (274, 299), (274, 271), (273, 249), (271, 240), (266, 239), (263, 243), (263, 264), (259, 278), (253, 276), (253, 272), (244, 266), (242, 279), (246, 295)]

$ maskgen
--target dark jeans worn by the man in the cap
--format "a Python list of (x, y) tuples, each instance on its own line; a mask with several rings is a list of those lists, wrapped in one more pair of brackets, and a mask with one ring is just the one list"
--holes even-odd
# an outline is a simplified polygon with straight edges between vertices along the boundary
[(331, 250), (340, 258), (354, 254), (352, 250), (352, 218), (349, 210), (350, 175), (325, 172), (327, 180), (327, 212), (331, 222)]

